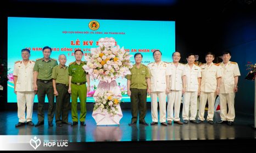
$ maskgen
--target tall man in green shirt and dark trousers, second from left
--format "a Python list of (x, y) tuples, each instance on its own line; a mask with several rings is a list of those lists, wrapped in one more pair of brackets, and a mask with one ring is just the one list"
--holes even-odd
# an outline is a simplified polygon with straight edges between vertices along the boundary
[(44, 100), (47, 95), (48, 98), (48, 125), (53, 126), (54, 116), (54, 94), (52, 86), (52, 69), (58, 65), (57, 60), (50, 58), (52, 49), (49, 46), (43, 48), (43, 58), (38, 58), (34, 67), (34, 90), (37, 91), (38, 122), (35, 125), (40, 126), (44, 124)]

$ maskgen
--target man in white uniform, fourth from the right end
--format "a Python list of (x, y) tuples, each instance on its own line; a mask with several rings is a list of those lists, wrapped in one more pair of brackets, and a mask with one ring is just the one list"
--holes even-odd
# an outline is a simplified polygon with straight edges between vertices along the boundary
[(179, 125), (183, 124), (180, 121), (180, 104), (182, 93), (185, 93), (186, 74), (185, 65), (179, 63), (180, 58), (180, 52), (176, 51), (172, 54), (173, 62), (169, 63), (172, 74), (169, 83), (171, 91), (167, 95), (167, 123), (169, 125), (172, 125), (172, 120)]

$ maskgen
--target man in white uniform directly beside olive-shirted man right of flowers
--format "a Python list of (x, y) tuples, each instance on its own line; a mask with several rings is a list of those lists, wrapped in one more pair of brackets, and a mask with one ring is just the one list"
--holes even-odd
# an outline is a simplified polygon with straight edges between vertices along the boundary
[(166, 94), (169, 89), (169, 75), (171, 75), (169, 64), (161, 61), (162, 52), (155, 50), (153, 52), (155, 62), (148, 64), (148, 69), (151, 74), (151, 125), (158, 123), (158, 104), (159, 98), (159, 120), (161, 125), (167, 126), (166, 123)]

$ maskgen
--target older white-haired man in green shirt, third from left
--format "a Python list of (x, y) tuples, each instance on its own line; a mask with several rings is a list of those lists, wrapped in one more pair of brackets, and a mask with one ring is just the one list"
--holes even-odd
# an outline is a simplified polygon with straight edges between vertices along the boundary
[[(56, 96), (55, 122), (57, 126), (70, 125), (68, 122), (70, 93), (69, 70), (66, 64), (66, 56), (59, 55), (59, 65), (52, 69), (52, 83), (54, 95)], [(62, 117), (62, 119), (60, 119)]]

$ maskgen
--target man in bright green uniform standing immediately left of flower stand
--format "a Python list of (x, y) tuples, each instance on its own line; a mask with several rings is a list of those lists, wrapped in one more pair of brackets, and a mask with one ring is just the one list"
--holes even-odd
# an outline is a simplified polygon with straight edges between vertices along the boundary
[[(75, 50), (76, 61), (69, 64), (69, 93), (71, 93), (71, 116), (73, 121), (71, 126), (78, 123), (77, 97), (80, 100), (80, 125), (86, 126), (86, 97), (87, 92), (90, 91), (90, 77), (82, 68), (86, 65), (86, 62), (81, 61), (82, 57), (82, 51)], [(86, 80), (88, 87), (86, 87)]]

